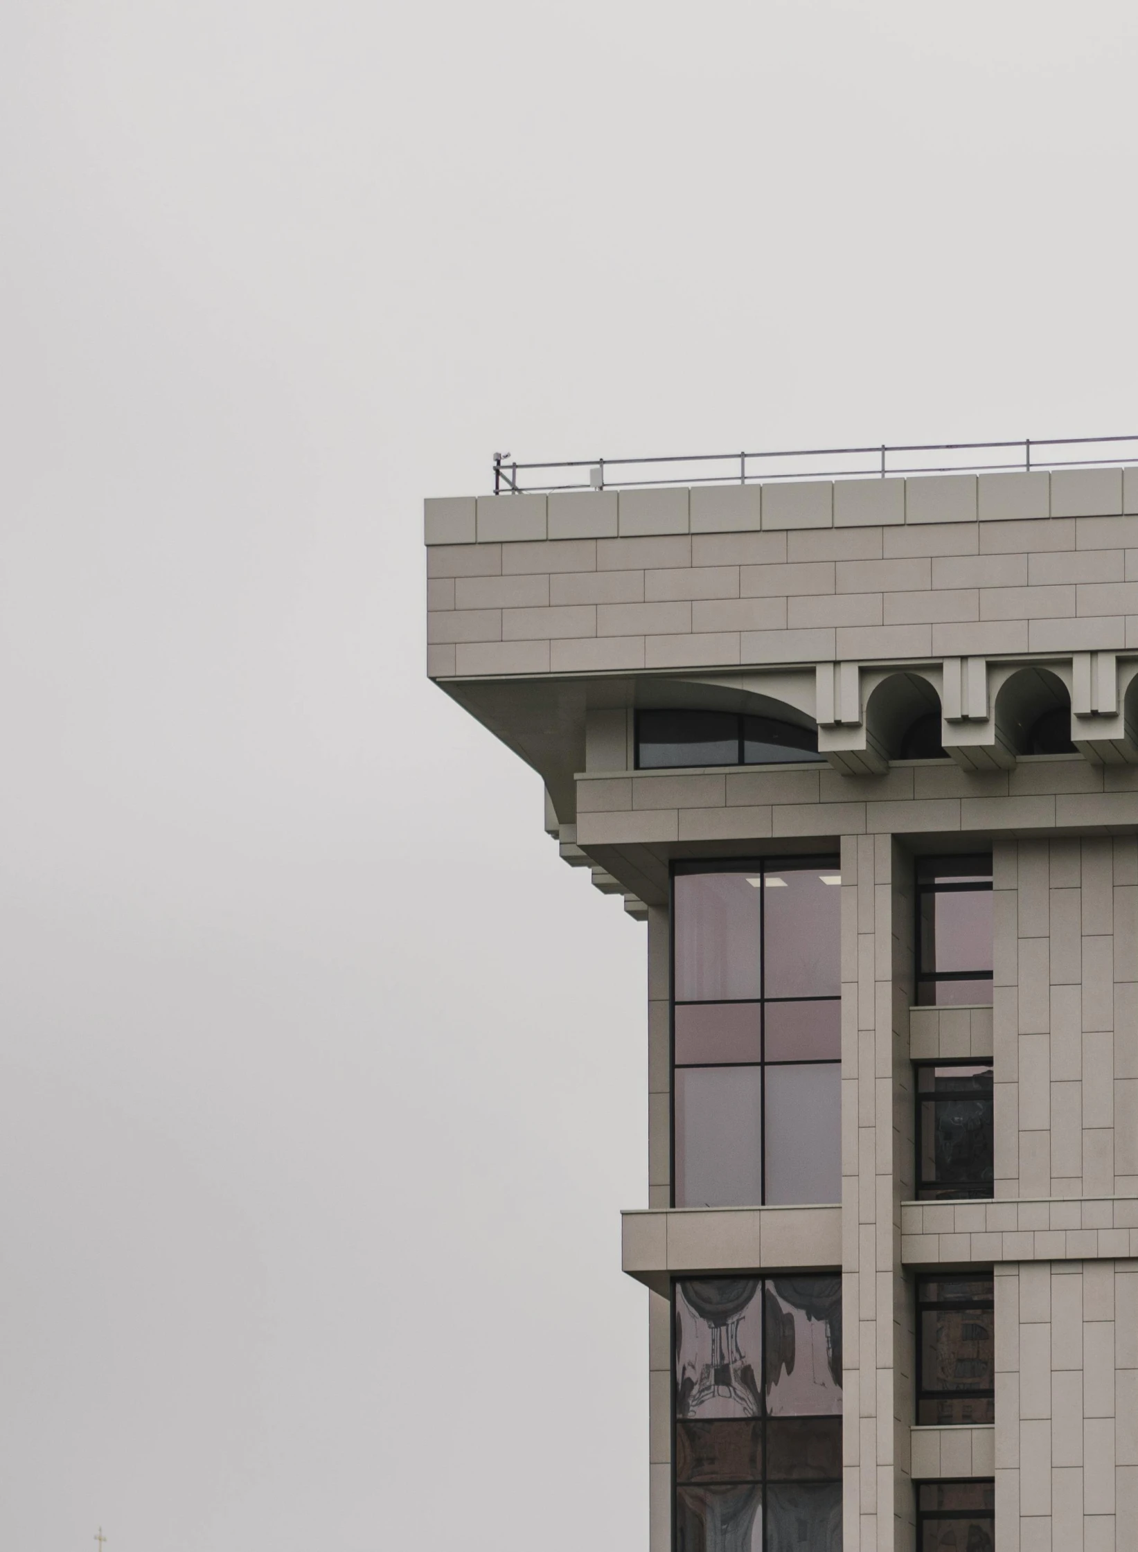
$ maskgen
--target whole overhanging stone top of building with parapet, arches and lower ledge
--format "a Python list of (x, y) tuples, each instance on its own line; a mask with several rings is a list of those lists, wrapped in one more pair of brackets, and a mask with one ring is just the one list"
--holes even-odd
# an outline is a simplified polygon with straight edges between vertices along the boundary
[[(1138, 469), (428, 501), (428, 672), (626, 902), (685, 855), (1138, 827)], [(1073, 756), (1025, 729), (1071, 711)], [(646, 706), (781, 715), (826, 764), (635, 770)], [(899, 759), (939, 708), (939, 760)]]

